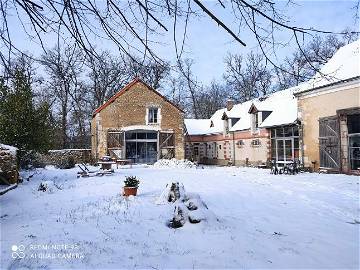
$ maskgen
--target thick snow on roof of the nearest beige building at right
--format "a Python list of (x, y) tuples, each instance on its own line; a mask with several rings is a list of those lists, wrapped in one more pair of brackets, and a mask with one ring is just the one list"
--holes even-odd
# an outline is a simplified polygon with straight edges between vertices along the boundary
[(359, 59), (360, 39), (341, 47), (297, 93), (360, 76)]

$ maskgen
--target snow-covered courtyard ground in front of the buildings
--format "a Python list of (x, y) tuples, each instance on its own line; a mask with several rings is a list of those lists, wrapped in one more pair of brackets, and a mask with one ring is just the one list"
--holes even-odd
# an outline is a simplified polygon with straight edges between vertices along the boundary
[[(77, 171), (39, 169), (0, 196), (0, 268), (359, 268), (358, 177), (133, 166), (77, 179)], [(141, 183), (125, 200), (128, 175)], [(41, 181), (48, 191), (38, 191)], [(156, 202), (171, 181), (200, 196), (207, 221), (166, 226), (174, 205)]]

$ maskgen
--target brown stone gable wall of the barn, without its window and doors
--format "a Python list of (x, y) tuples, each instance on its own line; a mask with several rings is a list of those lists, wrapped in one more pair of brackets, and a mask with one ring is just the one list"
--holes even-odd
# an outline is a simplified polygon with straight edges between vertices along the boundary
[(175, 158), (184, 158), (184, 115), (173, 104), (154, 93), (144, 83), (137, 82), (111, 104), (97, 113), (91, 122), (92, 154), (107, 154), (108, 130), (121, 130), (128, 126), (146, 125), (146, 108), (156, 106), (161, 111), (160, 130), (175, 133)]

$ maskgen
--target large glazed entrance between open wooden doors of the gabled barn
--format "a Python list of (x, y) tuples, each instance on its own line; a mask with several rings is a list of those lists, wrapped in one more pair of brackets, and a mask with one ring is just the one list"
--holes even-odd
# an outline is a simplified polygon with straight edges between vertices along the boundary
[(126, 158), (134, 163), (152, 164), (157, 160), (157, 132), (127, 131), (125, 133)]

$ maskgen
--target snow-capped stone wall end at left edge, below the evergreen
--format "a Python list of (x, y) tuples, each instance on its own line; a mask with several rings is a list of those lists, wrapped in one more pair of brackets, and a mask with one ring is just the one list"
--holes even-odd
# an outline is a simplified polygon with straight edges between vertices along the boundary
[(15, 184), (19, 180), (19, 171), (16, 157), (17, 149), (0, 144), (0, 184)]

